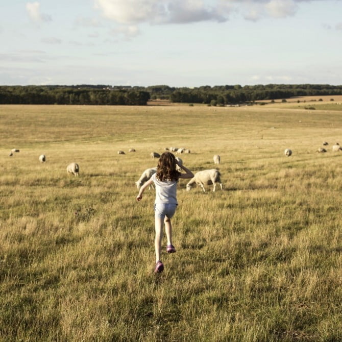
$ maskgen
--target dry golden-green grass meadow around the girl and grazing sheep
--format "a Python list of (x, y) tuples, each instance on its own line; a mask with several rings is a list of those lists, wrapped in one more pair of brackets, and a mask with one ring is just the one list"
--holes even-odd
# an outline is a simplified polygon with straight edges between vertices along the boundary
[[(0, 106), (0, 340), (342, 340), (342, 108), (320, 105)], [(156, 276), (135, 181), (169, 146), (223, 190), (180, 181)]]

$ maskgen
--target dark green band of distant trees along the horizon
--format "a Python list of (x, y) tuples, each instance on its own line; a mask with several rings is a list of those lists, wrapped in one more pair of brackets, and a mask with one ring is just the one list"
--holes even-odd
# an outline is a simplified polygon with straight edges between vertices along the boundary
[(196, 88), (156, 85), (0, 86), (0, 104), (146, 105), (161, 99), (178, 103), (232, 105), (294, 96), (341, 95), (341, 86), (328, 84), (224, 85)]

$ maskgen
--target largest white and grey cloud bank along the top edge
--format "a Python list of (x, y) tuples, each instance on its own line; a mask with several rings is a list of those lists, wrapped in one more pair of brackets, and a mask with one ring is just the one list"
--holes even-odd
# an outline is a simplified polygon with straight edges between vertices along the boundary
[(93, 0), (103, 16), (121, 25), (227, 21), (232, 13), (247, 20), (285, 18), (299, 3), (314, 0)]

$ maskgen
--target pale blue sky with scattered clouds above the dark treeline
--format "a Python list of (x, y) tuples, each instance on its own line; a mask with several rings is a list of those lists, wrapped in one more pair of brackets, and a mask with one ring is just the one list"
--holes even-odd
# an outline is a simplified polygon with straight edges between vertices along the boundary
[(342, 84), (342, 0), (1, 0), (0, 85)]

